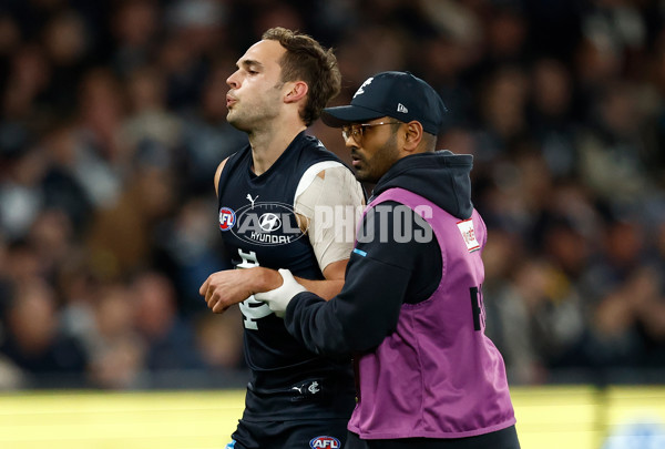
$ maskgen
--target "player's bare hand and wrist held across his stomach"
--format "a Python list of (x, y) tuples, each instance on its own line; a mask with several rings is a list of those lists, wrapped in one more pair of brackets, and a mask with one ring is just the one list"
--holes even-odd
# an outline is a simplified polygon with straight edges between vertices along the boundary
[(234, 304), (242, 303), (257, 292), (265, 292), (282, 284), (274, 269), (255, 267), (226, 269), (213, 273), (203, 283), (198, 293), (215, 314), (223, 314)]

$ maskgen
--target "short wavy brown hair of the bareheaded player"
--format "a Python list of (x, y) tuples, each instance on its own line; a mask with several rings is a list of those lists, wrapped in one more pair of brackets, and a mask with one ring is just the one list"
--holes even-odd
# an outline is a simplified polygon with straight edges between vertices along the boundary
[(277, 41), (286, 49), (279, 61), (282, 81), (301, 80), (309, 88), (300, 118), (309, 126), (341, 88), (341, 74), (332, 49), (325, 49), (307, 34), (276, 27), (267, 30), (263, 40)]

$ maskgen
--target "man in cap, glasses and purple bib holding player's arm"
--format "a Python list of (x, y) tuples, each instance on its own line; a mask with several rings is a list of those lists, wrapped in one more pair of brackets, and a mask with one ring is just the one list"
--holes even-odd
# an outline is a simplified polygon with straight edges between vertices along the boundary
[(282, 269), (283, 285), (256, 295), (310, 350), (354, 354), (347, 449), (520, 447), (504, 363), (484, 335), (472, 156), (434, 151), (446, 112), (408, 72), (379, 73), (350, 105), (324, 110), (357, 178), (376, 183), (345, 286), (326, 302)]

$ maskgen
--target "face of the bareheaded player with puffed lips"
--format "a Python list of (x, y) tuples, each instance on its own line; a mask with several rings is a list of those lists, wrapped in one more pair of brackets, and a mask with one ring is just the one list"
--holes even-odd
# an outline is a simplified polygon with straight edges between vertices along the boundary
[(284, 83), (279, 59), (286, 50), (277, 41), (265, 40), (252, 45), (238, 60), (226, 83), (228, 123), (245, 132), (269, 126), (283, 106)]

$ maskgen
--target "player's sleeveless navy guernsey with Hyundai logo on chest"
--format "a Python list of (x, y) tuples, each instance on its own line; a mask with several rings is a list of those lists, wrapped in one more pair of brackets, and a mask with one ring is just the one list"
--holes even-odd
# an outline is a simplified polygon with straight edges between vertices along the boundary
[[(305, 172), (314, 164), (341, 164), (313, 136), (299, 133), (268, 171), (252, 172), (252, 149), (226, 161), (218, 183), (219, 229), (225, 257), (236, 268), (288, 268), (324, 279), (309, 238), (294, 213)], [(254, 297), (241, 305), (245, 358), (252, 370), (245, 420), (348, 418), (355, 406), (349, 360), (309, 351), (284, 320)]]

